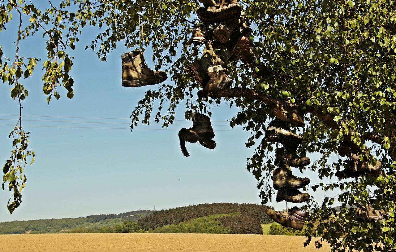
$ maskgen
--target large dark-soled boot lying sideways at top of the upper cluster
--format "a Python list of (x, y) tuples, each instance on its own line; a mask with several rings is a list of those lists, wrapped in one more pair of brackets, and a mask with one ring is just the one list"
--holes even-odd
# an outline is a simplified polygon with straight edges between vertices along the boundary
[(232, 17), (239, 17), (241, 11), (241, 6), (237, 0), (220, 0), (215, 6), (199, 8), (197, 15), (204, 23), (213, 24)]

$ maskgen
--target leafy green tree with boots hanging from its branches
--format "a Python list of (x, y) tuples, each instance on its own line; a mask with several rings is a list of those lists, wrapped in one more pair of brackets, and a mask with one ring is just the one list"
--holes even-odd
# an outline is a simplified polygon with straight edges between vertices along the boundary
[[(267, 158), (274, 143), (263, 132), (268, 121), (275, 118), (272, 110), (275, 104), (299, 108), (305, 126), (301, 130), (291, 129), (303, 136), (299, 152), (303, 155), (318, 152), (322, 156), (302, 170), (311, 169), (321, 179), (334, 177), (335, 171), (343, 166), (341, 158), (337, 158), (337, 148), (344, 142), (352, 152), (360, 154), (360, 159), (380, 160), (383, 171), (312, 185), (313, 190), (337, 189), (341, 194), (323, 202), (312, 199), (303, 207), (310, 212), (307, 242), (322, 236), (322, 241), (329, 242), (334, 251), (396, 248), (396, 181), (391, 175), (396, 165), (394, 1), (240, 0), (243, 15), (253, 29), (249, 39), (256, 59), (249, 66), (240, 61), (230, 62), (230, 78), (235, 87), (221, 90), (217, 98), (196, 98), (198, 84), (185, 71), (192, 60), (200, 57), (201, 48), (188, 42), (198, 21), (196, 10), (200, 3), (195, 0), (65, 0), (59, 6), (49, 1), (48, 8), (40, 6), (41, 10), (30, 1), (0, 2), (0, 31), (7, 26), (11, 14), (20, 19), (15, 31), (15, 55), (3, 55), (0, 50), (2, 80), (10, 85), (11, 96), (19, 106), (28, 95), (23, 79), (37, 65), (37, 59), (18, 53), (27, 36), (39, 33), (48, 39), (48, 60), (42, 63), (43, 91), (48, 102), (51, 97), (59, 99), (59, 86), (65, 87), (67, 96), (72, 98), (70, 53), (87, 25), (101, 28), (102, 32), (87, 46), (101, 60), (106, 60), (117, 42), (130, 48), (149, 44), (154, 50), (156, 67), (166, 68), (174, 85), (153, 86), (137, 103), (131, 115), (131, 128), (139, 120), (148, 124), (151, 117), (167, 127), (173, 123), (175, 108), (181, 104), (186, 105), (186, 119), (195, 110), (210, 116), (209, 105), (213, 102), (220, 105), (224, 98), (240, 109), (230, 126), (243, 125), (251, 132), (246, 146), (254, 146), (255, 150), (247, 169), (257, 179), (262, 202), (266, 204), (274, 193), (271, 186), (274, 165)], [(22, 25), (25, 22), (26, 27)], [(12, 213), (21, 202), (20, 190), (26, 182), (23, 167), (28, 155), (34, 159), (34, 152), (28, 150), (28, 133), (23, 131), (20, 121), (10, 136), (15, 139), (15, 150), (3, 167), (3, 188), (8, 183), (13, 190), (14, 201), (8, 204)], [(348, 205), (364, 205), (370, 194), (367, 187), (373, 185), (378, 187), (372, 192), (373, 205), (386, 209), (388, 217), (382, 222), (358, 223), (356, 210)], [(332, 207), (335, 200), (342, 203), (341, 210)], [(320, 242), (317, 246), (321, 246)]]

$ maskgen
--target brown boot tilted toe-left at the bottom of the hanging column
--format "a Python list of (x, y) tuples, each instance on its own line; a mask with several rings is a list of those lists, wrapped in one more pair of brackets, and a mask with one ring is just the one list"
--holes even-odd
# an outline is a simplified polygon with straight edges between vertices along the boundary
[(305, 217), (308, 212), (304, 212), (297, 206), (290, 208), (286, 211), (275, 211), (269, 208), (265, 209), (265, 213), (273, 219), (276, 223), (279, 223), (285, 227), (291, 227), (293, 229), (302, 230), (304, 227)]

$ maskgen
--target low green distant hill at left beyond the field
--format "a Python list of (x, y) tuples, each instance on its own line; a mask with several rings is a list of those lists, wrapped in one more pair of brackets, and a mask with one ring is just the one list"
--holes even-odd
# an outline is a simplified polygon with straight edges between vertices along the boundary
[(124, 221), (137, 221), (151, 213), (151, 210), (139, 210), (121, 214), (89, 215), (80, 218), (1, 222), (0, 234), (64, 233), (77, 228), (97, 229), (98, 227), (112, 227), (122, 224)]

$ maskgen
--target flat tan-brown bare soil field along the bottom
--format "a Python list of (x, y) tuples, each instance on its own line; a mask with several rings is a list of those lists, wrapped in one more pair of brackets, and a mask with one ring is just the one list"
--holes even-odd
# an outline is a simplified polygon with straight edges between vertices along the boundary
[(25, 234), (0, 235), (0, 251), (8, 252), (328, 252), (312, 240), (282, 235), (232, 234)]

